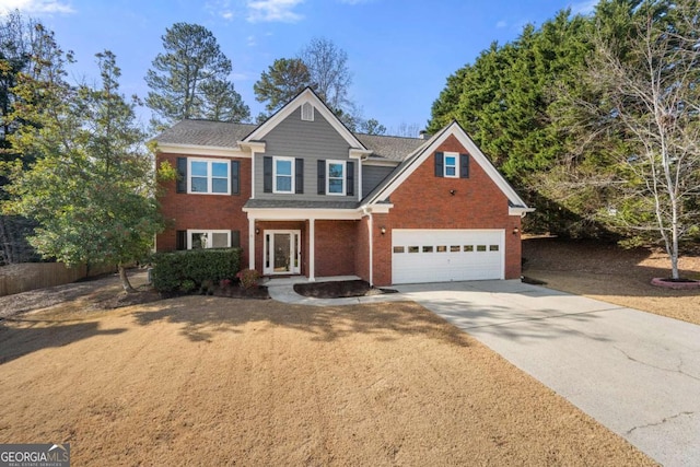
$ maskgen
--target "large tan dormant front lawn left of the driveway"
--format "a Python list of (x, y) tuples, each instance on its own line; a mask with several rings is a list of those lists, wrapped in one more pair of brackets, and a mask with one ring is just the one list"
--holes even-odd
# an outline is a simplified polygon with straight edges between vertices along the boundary
[(0, 443), (68, 442), (75, 466), (653, 464), (413, 303), (81, 300), (0, 324)]

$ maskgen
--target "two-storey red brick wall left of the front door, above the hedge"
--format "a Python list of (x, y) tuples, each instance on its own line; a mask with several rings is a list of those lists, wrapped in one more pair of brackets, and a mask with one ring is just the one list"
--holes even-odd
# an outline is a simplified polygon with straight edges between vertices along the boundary
[[(158, 155), (160, 164), (168, 161), (173, 167), (177, 166), (177, 157), (182, 154)], [(214, 157), (206, 154), (207, 159)], [(167, 229), (155, 238), (159, 252), (173, 250), (176, 247), (176, 231), (187, 229), (211, 229), (211, 230), (237, 230), (241, 231), (241, 247), (243, 248), (244, 261), (248, 260), (248, 219), (243, 212), (243, 205), (250, 198), (250, 160), (238, 159), (241, 162), (240, 172), (240, 195), (188, 195), (178, 194), (175, 190), (176, 182), (171, 180), (163, 184), (164, 196), (160, 198), (161, 212), (168, 221)]]

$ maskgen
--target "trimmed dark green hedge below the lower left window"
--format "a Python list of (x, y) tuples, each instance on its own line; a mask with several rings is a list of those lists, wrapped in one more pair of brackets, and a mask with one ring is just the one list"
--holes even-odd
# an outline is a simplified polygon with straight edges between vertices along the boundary
[(206, 248), (156, 253), (151, 280), (159, 292), (191, 292), (234, 279), (241, 270), (241, 248)]

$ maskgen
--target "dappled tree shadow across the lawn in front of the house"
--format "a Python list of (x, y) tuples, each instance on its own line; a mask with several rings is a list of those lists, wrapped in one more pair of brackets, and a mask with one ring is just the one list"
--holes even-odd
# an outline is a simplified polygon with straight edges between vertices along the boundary
[(133, 316), (142, 326), (179, 325), (183, 336), (192, 341), (209, 341), (219, 332), (265, 332), (284, 327), (327, 342), (365, 334), (384, 341), (425, 336), (453, 346), (468, 345), (462, 331), (409, 302), (320, 307), (187, 296), (152, 304), (150, 310), (137, 311)]

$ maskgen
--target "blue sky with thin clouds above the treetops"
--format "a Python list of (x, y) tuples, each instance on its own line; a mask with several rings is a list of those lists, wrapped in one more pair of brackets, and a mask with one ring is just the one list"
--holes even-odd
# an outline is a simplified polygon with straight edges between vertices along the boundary
[[(75, 79), (95, 81), (94, 54), (117, 55), (125, 94), (144, 97), (143, 81), (176, 22), (201, 24), (233, 61), (233, 82), (253, 116), (262, 110), (253, 84), (276, 58), (294, 57), (313, 37), (348, 54), (351, 97), (364, 118), (389, 129), (423, 127), (445, 80), (497, 40), (558, 11), (587, 13), (592, 0), (0, 0), (56, 33), (73, 50)], [(148, 120), (147, 110), (141, 110)]]

